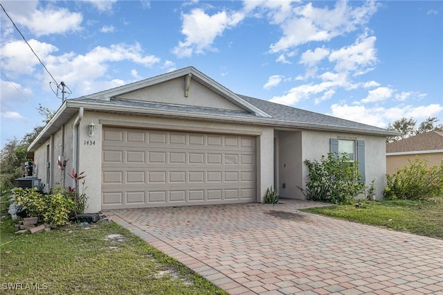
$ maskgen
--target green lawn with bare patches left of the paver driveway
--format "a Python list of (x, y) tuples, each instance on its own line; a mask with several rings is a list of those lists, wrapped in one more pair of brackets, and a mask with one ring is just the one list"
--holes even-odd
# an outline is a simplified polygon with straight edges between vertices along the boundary
[(226, 294), (114, 222), (17, 235), (2, 218), (0, 229), (0, 294)]

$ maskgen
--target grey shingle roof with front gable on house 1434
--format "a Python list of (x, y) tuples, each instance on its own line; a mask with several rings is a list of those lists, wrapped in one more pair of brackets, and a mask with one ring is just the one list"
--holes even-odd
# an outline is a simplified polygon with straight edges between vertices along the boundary
[[(213, 109), (189, 105), (173, 105), (161, 102), (137, 101), (118, 98), (123, 93), (138, 91), (154, 84), (188, 75), (204, 87), (208, 87), (222, 98), (237, 105), (243, 111)], [(233, 93), (223, 85), (204, 75), (192, 66), (158, 75), (138, 82), (126, 84), (80, 98), (64, 100), (62, 106), (44, 127), (42, 132), (30, 144), (28, 151), (34, 151), (44, 143), (62, 125), (78, 111), (106, 111), (118, 114), (138, 114), (148, 116), (170, 116), (174, 118), (192, 118), (197, 120), (218, 120), (224, 122), (266, 125), (273, 127), (290, 127), (299, 129), (315, 129), (331, 132), (364, 133), (377, 136), (397, 136), (398, 132), (365, 125), (341, 118), (335, 118), (313, 111), (296, 109), (274, 102), (251, 98)]]

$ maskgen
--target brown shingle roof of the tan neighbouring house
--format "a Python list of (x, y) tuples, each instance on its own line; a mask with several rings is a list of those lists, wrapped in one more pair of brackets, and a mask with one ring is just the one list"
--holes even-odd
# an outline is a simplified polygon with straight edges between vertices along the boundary
[(428, 131), (386, 144), (386, 152), (443, 150), (443, 132)]

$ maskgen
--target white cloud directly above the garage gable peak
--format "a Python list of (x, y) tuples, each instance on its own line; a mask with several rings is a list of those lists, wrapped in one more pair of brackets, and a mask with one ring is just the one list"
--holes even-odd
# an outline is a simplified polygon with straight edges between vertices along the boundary
[(244, 19), (240, 12), (217, 12), (207, 15), (204, 10), (196, 8), (190, 14), (183, 14), (181, 33), (186, 36), (184, 42), (179, 42), (172, 49), (177, 57), (190, 57), (206, 51), (216, 51), (213, 48), (215, 38), (223, 35), (224, 30), (233, 28)]

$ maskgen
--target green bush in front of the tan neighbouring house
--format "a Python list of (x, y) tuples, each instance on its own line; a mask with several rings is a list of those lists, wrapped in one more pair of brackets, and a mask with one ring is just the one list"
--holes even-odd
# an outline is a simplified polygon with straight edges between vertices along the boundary
[(386, 199), (443, 197), (443, 160), (440, 166), (428, 167), (428, 161), (415, 157), (386, 179)]

